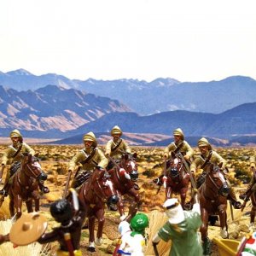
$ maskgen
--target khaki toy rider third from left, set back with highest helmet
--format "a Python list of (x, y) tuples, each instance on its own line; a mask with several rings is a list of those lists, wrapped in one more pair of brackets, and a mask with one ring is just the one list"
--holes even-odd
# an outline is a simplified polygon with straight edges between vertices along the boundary
[[(123, 131), (121, 131), (118, 125), (113, 126), (113, 129), (111, 130), (111, 136), (113, 139), (108, 141), (106, 145), (106, 156), (110, 156), (117, 162), (121, 159), (123, 153), (131, 154), (131, 148), (128, 146), (124, 139), (121, 139), (122, 134)], [(112, 168), (113, 163), (109, 161), (107, 170)]]

